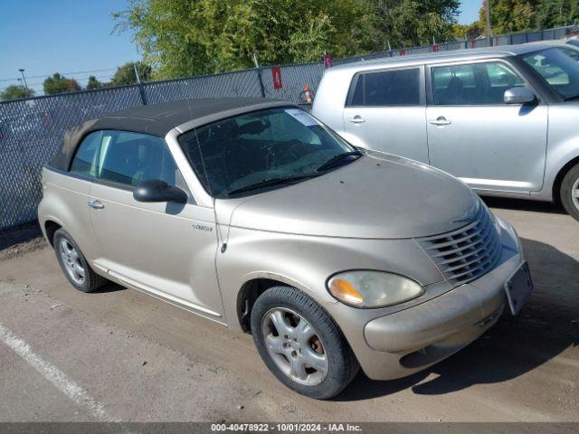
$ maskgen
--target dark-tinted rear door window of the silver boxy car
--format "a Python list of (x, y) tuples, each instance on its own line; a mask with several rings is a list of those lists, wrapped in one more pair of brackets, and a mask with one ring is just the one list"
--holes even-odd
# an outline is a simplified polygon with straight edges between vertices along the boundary
[(420, 70), (362, 72), (356, 74), (347, 106), (417, 106), (420, 104)]

